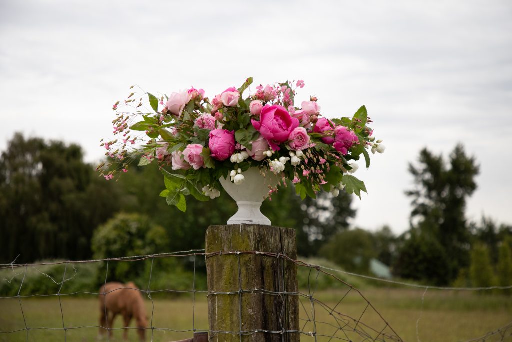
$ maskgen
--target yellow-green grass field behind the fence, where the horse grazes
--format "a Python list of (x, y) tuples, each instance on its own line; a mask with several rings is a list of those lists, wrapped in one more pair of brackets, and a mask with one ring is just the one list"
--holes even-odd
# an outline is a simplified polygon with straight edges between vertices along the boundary
[[(321, 291), (315, 294), (315, 298), (334, 307), (345, 293), (344, 290)], [(422, 304), (424, 290), (368, 288), (362, 293), (404, 341), (466, 341), (483, 336), (512, 321), (512, 299), (500, 295), (429, 290), (424, 295)], [(301, 319), (307, 319), (311, 316), (311, 303), (306, 298), (303, 299), (303, 303)], [(69, 328), (66, 332), (67, 341), (95, 341), (98, 336), (96, 327), (99, 314), (98, 299), (87, 296), (62, 296), (61, 304), (64, 322), (62, 322), (61, 308), (56, 296), (22, 299), (25, 320), (27, 326), (31, 328), (28, 340), (63, 341), (65, 340), (63, 330), (37, 328), (62, 329), (65, 324)], [(358, 318), (366, 306), (366, 301), (357, 293), (350, 293), (339, 304), (336, 311)], [(207, 302), (204, 295), (198, 296), (195, 305), (191, 298), (181, 297), (177, 299), (157, 298), (153, 303), (146, 300), (146, 307), (150, 319), (153, 316), (153, 326), (156, 328), (178, 331), (193, 328), (208, 329)], [(336, 331), (333, 328), (335, 322), (333, 323), (329, 312), (318, 304), (315, 305), (315, 319), (317, 322), (329, 323), (317, 323), (319, 335), (332, 335)], [(361, 323), (379, 331), (385, 327), (383, 320), (371, 309), (365, 311)], [(301, 328), (304, 324), (306, 324), (305, 331), (312, 330), (311, 323), (302, 321)], [(417, 326), (419, 335), (416, 334)], [(118, 317), (115, 328), (121, 327), (121, 318)], [(18, 299), (0, 299), (0, 331), (18, 329), (25, 329), (24, 317)], [(508, 331), (508, 334), (512, 334), (512, 331)], [(137, 340), (135, 331), (130, 331), (129, 335), (130, 340)], [(151, 335), (152, 331), (148, 331), (146, 340), (151, 340)], [(175, 341), (191, 336), (190, 331), (179, 333), (169, 330), (154, 330), (153, 332), (155, 341)], [(122, 340), (122, 331), (115, 331), (114, 337), (114, 340)], [(340, 332), (336, 337), (346, 338)], [(0, 334), (0, 341), (25, 340), (27, 340), (26, 330)], [(302, 335), (301, 340), (314, 341), (313, 337), (307, 335)], [(318, 338), (318, 340), (328, 341), (329, 338)], [(337, 339), (332, 341), (335, 340)], [(486, 341), (494, 340), (501, 339), (495, 336)], [(508, 337), (508, 340), (512, 340), (512, 337)]]

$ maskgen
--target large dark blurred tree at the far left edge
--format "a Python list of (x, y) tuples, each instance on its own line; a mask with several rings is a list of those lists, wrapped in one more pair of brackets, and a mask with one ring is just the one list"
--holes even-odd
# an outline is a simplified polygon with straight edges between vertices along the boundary
[(78, 145), (15, 134), (0, 156), (0, 262), (91, 257), (93, 229), (121, 205), (103, 181)]

